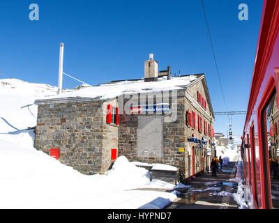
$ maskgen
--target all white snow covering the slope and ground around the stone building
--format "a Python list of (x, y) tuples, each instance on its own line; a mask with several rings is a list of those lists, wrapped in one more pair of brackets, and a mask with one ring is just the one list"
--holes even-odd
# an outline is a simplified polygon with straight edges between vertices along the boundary
[[(126, 157), (119, 157), (105, 175), (86, 176), (33, 148), (33, 130), (25, 129), (36, 125), (37, 107), (21, 107), (56, 91), (47, 84), (0, 79), (0, 208), (163, 208), (176, 199), (175, 192), (135, 190), (175, 186), (150, 181), (149, 171)], [(218, 153), (226, 162), (235, 155), (224, 148)]]

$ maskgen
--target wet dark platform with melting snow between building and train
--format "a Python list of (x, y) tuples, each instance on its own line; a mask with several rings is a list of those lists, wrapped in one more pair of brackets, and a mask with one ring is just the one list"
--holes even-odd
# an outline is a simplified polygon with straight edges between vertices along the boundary
[(188, 183), (188, 188), (177, 189), (177, 199), (169, 203), (166, 209), (238, 209), (233, 195), (238, 184), (229, 179), (236, 176), (235, 162), (223, 167), (217, 176), (211, 173), (200, 174)]

